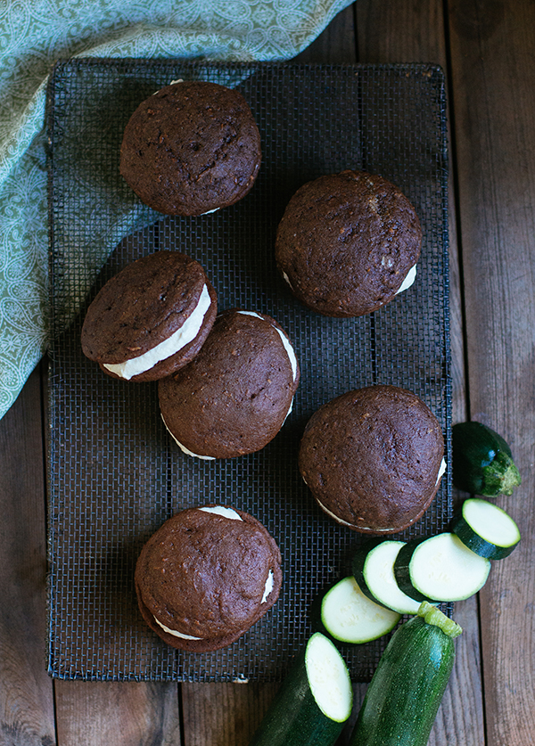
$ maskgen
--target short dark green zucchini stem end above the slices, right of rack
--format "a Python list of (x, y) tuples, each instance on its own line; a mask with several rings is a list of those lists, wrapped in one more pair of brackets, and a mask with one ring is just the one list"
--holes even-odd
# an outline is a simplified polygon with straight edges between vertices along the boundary
[(511, 448), (481, 422), (458, 422), (451, 430), (453, 483), (473, 495), (512, 495), (521, 477)]

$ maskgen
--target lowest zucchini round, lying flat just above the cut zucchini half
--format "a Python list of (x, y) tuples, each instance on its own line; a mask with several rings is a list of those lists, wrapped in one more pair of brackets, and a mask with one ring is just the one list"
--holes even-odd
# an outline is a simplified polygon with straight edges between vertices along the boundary
[(399, 613), (369, 599), (352, 576), (342, 578), (327, 591), (320, 614), (329, 635), (351, 644), (376, 640), (399, 622)]

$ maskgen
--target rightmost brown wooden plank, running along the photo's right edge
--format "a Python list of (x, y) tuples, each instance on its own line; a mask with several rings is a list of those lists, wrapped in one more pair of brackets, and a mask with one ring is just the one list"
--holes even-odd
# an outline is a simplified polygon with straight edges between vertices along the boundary
[(496, 500), (523, 543), (494, 563), (481, 592), (487, 739), (527, 746), (535, 718), (535, 6), (456, 0), (449, 36), (470, 414), (504, 435), (523, 474), (512, 497)]

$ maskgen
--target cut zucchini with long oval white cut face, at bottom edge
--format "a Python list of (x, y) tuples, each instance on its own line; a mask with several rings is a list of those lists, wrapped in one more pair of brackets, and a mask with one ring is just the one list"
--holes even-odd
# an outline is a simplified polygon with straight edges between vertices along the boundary
[(331, 746), (350, 717), (353, 689), (335, 645), (309, 638), (252, 737), (250, 746)]

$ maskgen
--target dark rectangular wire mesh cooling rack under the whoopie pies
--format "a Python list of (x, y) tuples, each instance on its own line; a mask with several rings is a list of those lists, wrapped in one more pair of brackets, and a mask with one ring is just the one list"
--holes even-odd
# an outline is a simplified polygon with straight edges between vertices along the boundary
[[(130, 113), (178, 78), (237, 87), (261, 135), (262, 165), (251, 193), (202, 217), (162, 217), (119, 176), (119, 143)], [(363, 538), (318, 510), (300, 480), (297, 451), (309, 416), (352, 388), (403, 386), (437, 415), (449, 457), (442, 73), (421, 64), (78, 59), (56, 65), (47, 119), (49, 672), (82, 679), (280, 679), (313, 628), (311, 603), (349, 574), (350, 555)], [(424, 230), (413, 287), (357, 319), (327, 318), (301, 306), (274, 261), (276, 226), (292, 193), (344, 168), (364, 168), (398, 184)], [(268, 313), (293, 340), (301, 368), (294, 408), (257, 454), (221, 462), (183, 455), (161, 422), (156, 384), (114, 381), (82, 355), (80, 327), (96, 291), (128, 261), (158, 249), (198, 259), (220, 309)], [(207, 502), (235, 505), (266, 525), (281, 548), (284, 586), (273, 610), (235, 644), (206, 654), (177, 652), (145, 627), (134, 567), (163, 521)], [(399, 537), (443, 529), (450, 512), (448, 471), (424, 519)], [(342, 646), (353, 679), (370, 678), (387, 639)]]

